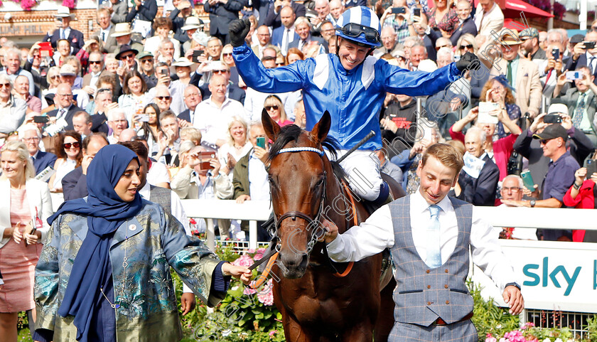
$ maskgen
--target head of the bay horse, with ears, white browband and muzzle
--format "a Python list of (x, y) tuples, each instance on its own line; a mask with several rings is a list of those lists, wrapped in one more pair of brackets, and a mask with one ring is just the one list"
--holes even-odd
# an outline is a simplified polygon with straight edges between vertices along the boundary
[[(286, 278), (300, 278), (308, 265), (308, 252), (321, 230), (317, 221), (323, 212), (326, 179), (333, 171), (321, 142), (330, 129), (326, 111), (311, 132), (290, 125), (284, 128), (262, 113), (271, 146), (269, 183), (276, 216), (279, 267)], [(290, 149), (290, 150), (289, 150)]]

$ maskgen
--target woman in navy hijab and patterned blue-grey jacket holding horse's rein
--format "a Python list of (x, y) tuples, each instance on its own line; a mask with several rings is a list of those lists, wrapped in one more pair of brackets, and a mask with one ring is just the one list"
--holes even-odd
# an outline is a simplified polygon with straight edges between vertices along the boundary
[(220, 262), (175, 218), (139, 196), (139, 160), (105, 146), (87, 171), (89, 196), (65, 202), (36, 267), (36, 341), (178, 341), (172, 267), (210, 306), (230, 276), (251, 272)]

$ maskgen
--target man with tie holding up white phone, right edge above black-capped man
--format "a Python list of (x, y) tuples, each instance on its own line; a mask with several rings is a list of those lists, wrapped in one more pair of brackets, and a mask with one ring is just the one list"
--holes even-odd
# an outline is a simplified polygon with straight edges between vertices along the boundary
[(556, 88), (554, 89), (554, 103), (563, 103), (572, 113), (572, 125), (581, 130), (588, 139), (591, 139), (593, 146), (597, 146), (597, 127), (595, 124), (595, 110), (597, 108), (597, 85), (594, 83), (595, 76), (587, 66), (577, 68), (582, 75), (580, 80), (574, 80), (576, 87), (570, 87), (564, 95), (561, 95), (561, 87), (572, 80), (566, 79), (566, 74), (559, 75)]

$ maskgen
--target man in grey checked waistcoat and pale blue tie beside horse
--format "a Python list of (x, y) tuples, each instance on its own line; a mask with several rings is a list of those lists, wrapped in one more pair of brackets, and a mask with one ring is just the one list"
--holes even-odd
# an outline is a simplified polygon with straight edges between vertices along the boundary
[(396, 266), (394, 327), (388, 341), (478, 341), (473, 297), (466, 288), (473, 262), (503, 290), (510, 314), (524, 300), (493, 228), (473, 205), (448, 198), (463, 167), (447, 144), (429, 146), (416, 169), (419, 191), (382, 206), (346, 233), (327, 220), (328, 254), (336, 262), (362, 260), (389, 248)]

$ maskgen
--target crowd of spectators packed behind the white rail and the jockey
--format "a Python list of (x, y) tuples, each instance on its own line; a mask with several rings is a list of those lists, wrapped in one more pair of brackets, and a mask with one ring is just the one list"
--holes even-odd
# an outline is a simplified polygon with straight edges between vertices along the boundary
[[(0, 138), (26, 143), (54, 210), (86, 195), (98, 141), (141, 141), (148, 182), (171, 188), (173, 196), (269, 200), (269, 144), (257, 139), (264, 137), (259, 121), (266, 112), (281, 126), (305, 127), (301, 91), (247, 87), (232, 58), (228, 23), (249, 18), (247, 45), (265, 68), (284, 68), (335, 53), (336, 21), (364, 2), (173, 0), (158, 13), (156, 0), (130, 8), (110, 0), (88, 37), (70, 26), (70, 11), (60, 6), (43, 41), (19, 49), (0, 39)], [(435, 2), (369, 4), (382, 23), (382, 46), (372, 58), (432, 72), (471, 52), (483, 65), (430, 97), (387, 94), (380, 112), (384, 149), (377, 153), (382, 170), (412, 193), (421, 153), (448, 141), (466, 161), (453, 196), (475, 205), (593, 208), (597, 175), (581, 166), (597, 144), (595, 28), (571, 38), (557, 28), (519, 32), (504, 27), (494, 0), (476, 8), (468, 0)], [(577, 77), (567, 77), (569, 71)], [(523, 186), (521, 173), (534, 186)], [(217, 225), (222, 236), (242, 236), (233, 236), (235, 223)], [(591, 236), (539, 230), (534, 238)]]

